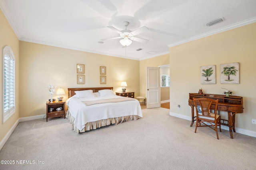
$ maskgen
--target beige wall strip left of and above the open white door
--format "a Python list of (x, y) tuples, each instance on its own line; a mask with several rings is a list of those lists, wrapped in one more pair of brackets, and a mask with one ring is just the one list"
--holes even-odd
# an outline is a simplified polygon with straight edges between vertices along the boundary
[[(146, 67), (169, 64), (169, 54), (140, 61), (140, 96), (146, 97)], [(159, 80), (160, 81), (160, 80)]]

